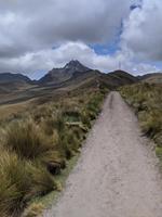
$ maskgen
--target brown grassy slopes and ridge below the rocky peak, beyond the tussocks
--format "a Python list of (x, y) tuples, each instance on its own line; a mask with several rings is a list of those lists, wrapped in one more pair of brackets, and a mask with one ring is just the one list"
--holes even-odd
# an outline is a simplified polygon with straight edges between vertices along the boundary
[[(48, 76), (49, 74), (46, 74)], [(50, 78), (49, 78), (50, 79)], [(53, 80), (53, 79), (52, 79)], [(125, 72), (117, 71), (110, 74), (103, 74), (98, 71), (89, 69), (85, 72), (73, 72), (69, 79), (60, 82), (5, 82), (0, 84), (0, 105), (24, 103), (29, 100), (40, 98), (53, 98), (63, 91), (76, 90), (76, 88), (86, 88), (105, 86), (114, 89), (119, 86), (131, 85), (138, 79)], [(14, 84), (14, 85), (13, 85)]]

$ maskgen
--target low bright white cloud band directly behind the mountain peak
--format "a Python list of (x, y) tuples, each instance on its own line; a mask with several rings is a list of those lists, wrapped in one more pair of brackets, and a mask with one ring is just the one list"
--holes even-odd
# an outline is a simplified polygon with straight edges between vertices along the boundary
[(24, 73), (30, 77), (40, 78), (53, 67), (62, 67), (67, 62), (78, 59), (90, 68), (108, 73), (118, 68), (119, 63), (122, 69), (134, 74), (139, 72), (154, 72), (157, 68), (150, 64), (136, 64), (127, 56), (127, 52), (118, 51), (113, 55), (96, 54), (87, 44), (78, 42), (66, 42), (55, 49), (44, 49), (37, 52), (27, 53), (21, 58), (3, 60), (0, 62), (1, 68), (9, 68), (13, 73)]

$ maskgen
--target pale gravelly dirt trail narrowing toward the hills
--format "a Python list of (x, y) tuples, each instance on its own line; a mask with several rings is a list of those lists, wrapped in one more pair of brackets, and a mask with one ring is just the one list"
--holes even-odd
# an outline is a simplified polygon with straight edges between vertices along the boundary
[(137, 119), (111, 92), (56, 206), (44, 217), (162, 217), (162, 179)]

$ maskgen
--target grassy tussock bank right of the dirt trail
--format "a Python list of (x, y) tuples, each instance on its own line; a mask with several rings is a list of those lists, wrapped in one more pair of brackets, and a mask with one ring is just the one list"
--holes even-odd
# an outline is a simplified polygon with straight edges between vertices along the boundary
[(162, 85), (137, 84), (122, 87), (120, 92), (135, 108), (144, 135), (156, 142), (162, 157)]

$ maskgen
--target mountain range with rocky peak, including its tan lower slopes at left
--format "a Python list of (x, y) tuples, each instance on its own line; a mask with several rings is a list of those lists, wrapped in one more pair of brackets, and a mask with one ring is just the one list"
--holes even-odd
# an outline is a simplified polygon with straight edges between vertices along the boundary
[(46, 101), (56, 94), (86, 88), (107, 87), (114, 90), (119, 86), (131, 85), (138, 80), (123, 71), (104, 74), (84, 66), (79, 61), (70, 61), (62, 68), (53, 68), (38, 81), (31, 81), (19, 74), (0, 74), (0, 104), (24, 102), (30, 99)]

